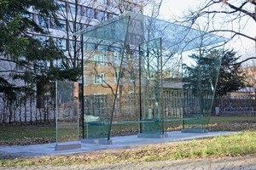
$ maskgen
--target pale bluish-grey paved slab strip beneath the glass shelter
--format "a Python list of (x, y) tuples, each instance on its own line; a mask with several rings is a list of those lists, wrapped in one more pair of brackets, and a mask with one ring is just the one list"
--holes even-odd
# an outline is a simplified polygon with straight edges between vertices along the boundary
[(234, 132), (209, 132), (209, 133), (181, 133), (180, 131), (168, 132), (168, 138), (162, 139), (143, 139), (137, 138), (137, 135), (117, 136), (111, 138), (113, 144), (84, 144), (77, 142), (67, 142), (59, 144), (81, 144), (81, 148), (73, 150), (55, 150), (55, 143), (51, 144), (31, 144), (25, 146), (1, 146), (0, 156), (54, 156), (88, 152), (92, 150), (110, 150), (110, 149), (129, 149), (132, 147), (147, 145), (172, 143), (192, 139), (211, 138), (220, 135), (229, 135)]

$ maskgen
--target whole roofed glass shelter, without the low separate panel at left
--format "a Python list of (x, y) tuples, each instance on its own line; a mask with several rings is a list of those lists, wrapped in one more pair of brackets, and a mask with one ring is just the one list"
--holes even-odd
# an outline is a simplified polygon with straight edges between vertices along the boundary
[[(165, 138), (177, 120), (183, 132), (207, 133), (221, 56), (202, 52), (226, 38), (133, 13), (77, 35), (83, 37), (82, 141), (110, 144), (113, 126), (128, 124), (138, 137)], [(193, 49), (197, 57), (183, 54)]]

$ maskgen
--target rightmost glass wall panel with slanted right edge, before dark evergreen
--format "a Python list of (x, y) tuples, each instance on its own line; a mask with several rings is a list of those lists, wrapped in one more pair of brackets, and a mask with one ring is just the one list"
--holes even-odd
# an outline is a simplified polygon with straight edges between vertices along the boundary
[(183, 64), (183, 128), (206, 130), (218, 80), (221, 54), (217, 50), (210, 53), (202, 53), (200, 50), (184, 60), (187, 62)]

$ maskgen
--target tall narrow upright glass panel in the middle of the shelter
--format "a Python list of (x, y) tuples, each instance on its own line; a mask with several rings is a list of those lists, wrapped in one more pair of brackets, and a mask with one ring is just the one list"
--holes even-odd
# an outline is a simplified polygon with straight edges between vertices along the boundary
[(163, 133), (161, 39), (140, 44), (141, 132)]

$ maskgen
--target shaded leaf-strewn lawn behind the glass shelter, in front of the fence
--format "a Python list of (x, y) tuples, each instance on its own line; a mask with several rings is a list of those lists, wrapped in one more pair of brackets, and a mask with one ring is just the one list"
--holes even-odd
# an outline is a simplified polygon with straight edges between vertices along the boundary
[[(251, 124), (250, 124), (251, 123)], [(211, 116), (209, 128), (212, 131), (216, 130), (231, 130), (241, 131), (256, 124), (256, 116)], [(182, 128), (181, 122), (167, 122), (167, 130), (180, 130)], [(243, 125), (243, 126), (241, 126)], [(76, 127), (60, 126), (60, 139), (68, 139), (71, 133), (78, 135)], [(80, 133), (82, 129), (80, 127)], [(138, 132), (138, 124), (123, 124), (113, 125), (112, 135), (127, 135), (136, 134)], [(5, 124), (0, 125), (0, 145), (2, 144), (37, 144), (55, 142), (55, 124), (33, 124), (33, 125), (15, 125)], [(80, 134), (81, 135), (81, 134)], [(76, 138), (76, 137), (74, 137)], [(69, 138), (70, 139), (70, 138)]]

